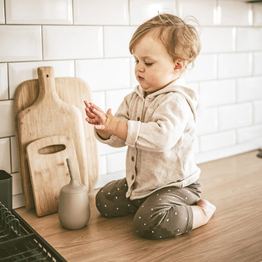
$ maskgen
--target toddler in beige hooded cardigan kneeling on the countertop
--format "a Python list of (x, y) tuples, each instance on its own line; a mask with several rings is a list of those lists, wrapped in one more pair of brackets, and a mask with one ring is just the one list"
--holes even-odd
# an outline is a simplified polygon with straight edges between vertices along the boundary
[(181, 77), (200, 48), (192, 25), (159, 14), (132, 36), (129, 50), (139, 85), (116, 115), (85, 101), (86, 120), (94, 125), (97, 140), (128, 146), (126, 177), (101, 188), (96, 207), (105, 217), (134, 213), (136, 231), (147, 238), (188, 233), (215, 211), (200, 199), (200, 169), (193, 150), (197, 99)]

